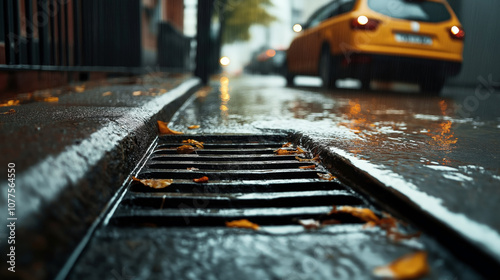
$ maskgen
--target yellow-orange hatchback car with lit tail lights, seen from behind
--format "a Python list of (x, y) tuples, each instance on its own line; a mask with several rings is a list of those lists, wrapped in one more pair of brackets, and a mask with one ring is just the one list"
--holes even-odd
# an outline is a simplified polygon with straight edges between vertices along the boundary
[[(465, 31), (444, 0), (336, 0), (302, 26), (286, 57), (286, 78), (320, 76), (417, 82), (439, 92), (462, 65)], [(300, 30), (297, 26), (295, 30)]]

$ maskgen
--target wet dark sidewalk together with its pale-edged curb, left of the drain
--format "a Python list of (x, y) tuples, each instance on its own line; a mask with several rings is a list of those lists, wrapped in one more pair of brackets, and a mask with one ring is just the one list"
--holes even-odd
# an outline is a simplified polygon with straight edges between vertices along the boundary
[[(149, 74), (0, 101), (0, 166), (15, 165), (17, 277), (57, 273), (155, 139), (156, 121), (168, 121), (199, 86), (186, 75)], [(2, 254), (8, 230), (0, 230)], [(6, 261), (3, 254), (3, 279)]]

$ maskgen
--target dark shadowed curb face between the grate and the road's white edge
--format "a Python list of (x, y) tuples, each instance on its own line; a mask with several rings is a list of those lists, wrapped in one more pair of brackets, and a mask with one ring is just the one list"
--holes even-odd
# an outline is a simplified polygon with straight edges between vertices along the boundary
[(295, 143), (314, 151), (322, 159), (329, 171), (340, 180), (346, 182), (354, 191), (361, 193), (367, 200), (381, 209), (394, 213), (401, 220), (406, 220), (434, 237), (458, 259), (470, 264), (487, 279), (500, 277), (500, 260), (484, 251), (460, 232), (452, 229), (440, 219), (418, 206), (404, 194), (381, 183), (368, 172), (335, 153), (330, 147), (307, 135), (292, 135)]

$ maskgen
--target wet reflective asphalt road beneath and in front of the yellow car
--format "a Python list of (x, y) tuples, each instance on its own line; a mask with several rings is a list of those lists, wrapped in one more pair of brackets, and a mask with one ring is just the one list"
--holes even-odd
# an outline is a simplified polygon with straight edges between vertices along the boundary
[[(221, 75), (187, 102), (171, 127), (196, 133), (303, 132), (435, 215), (500, 259), (500, 92), (476, 88), (429, 96), (388, 85), (322, 90), (299, 77)], [(394, 88), (392, 88), (394, 89)]]

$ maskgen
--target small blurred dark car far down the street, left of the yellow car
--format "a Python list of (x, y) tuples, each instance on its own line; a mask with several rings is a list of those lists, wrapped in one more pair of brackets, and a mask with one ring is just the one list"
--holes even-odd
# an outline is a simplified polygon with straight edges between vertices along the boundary
[(253, 54), (246, 71), (255, 74), (283, 74), (286, 52), (277, 49), (265, 49)]

